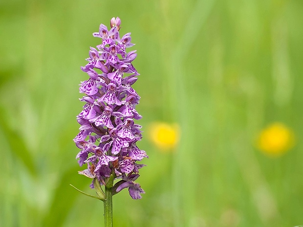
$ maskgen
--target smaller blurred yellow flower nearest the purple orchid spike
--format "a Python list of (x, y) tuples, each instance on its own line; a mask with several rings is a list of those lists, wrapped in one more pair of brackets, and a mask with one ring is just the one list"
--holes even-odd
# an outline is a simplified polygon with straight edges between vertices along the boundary
[(150, 125), (150, 139), (161, 150), (174, 148), (180, 138), (180, 128), (177, 124), (155, 122)]

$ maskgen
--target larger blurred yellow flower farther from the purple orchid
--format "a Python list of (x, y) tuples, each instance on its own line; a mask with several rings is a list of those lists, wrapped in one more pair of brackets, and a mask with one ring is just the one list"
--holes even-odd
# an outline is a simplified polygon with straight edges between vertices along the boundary
[(258, 138), (258, 148), (271, 156), (280, 156), (294, 145), (294, 133), (282, 123), (264, 128)]

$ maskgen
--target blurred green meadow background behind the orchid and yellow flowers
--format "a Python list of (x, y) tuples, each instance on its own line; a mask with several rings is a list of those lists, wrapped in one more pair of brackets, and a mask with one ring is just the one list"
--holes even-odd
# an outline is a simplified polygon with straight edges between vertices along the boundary
[[(100, 23), (122, 20), (136, 43), (149, 159), (134, 201), (114, 196), (115, 227), (303, 225), (302, 0), (0, 1), (0, 226), (103, 224), (103, 203), (77, 174), (80, 81)], [(147, 129), (178, 123), (159, 151)], [(296, 145), (278, 158), (256, 148), (272, 122)]]

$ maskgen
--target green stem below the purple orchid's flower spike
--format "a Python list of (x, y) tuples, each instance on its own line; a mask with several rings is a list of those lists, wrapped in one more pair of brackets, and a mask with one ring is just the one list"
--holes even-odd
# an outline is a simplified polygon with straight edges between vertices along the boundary
[(105, 185), (105, 200), (104, 200), (104, 221), (105, 227), (112, 227), (112, 185), (113, 174), (108, 178)]

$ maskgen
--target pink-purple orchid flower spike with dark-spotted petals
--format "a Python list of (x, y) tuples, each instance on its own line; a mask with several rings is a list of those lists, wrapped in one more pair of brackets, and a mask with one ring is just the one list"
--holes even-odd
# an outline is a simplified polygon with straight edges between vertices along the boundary
[(80, 84), (80, 93), (85, 93), (80, 100), (85, 105), (77, 116), (81, 126), (74, 142), (81, 151), (76, 159), (80, 166), (87, 164), (80, 174), (98, 179), (101, 185), (112, 175), (120, 179), (112, 187), (113, 194), (129, 188), (131, 198), (141, 199), (145, 192), (134, 181), (144, 165), (136, 162), (148, 156), (136, 145), (142, 138), (141, 125), (134, 123), (142, 118), (135, 109), (140, 96), (131, 87), (139, 75), (131, 63), (137, 54), (126, 52), (134, 44), (130, 33), (120, 38), (120, 24), (117, 17), (111, 19), (109, 31), (100, 25), (93, 36), (102, 38), (102, 43), (97, 49), (90, 47), (88, 63), (81, 67), (89, 79)]

